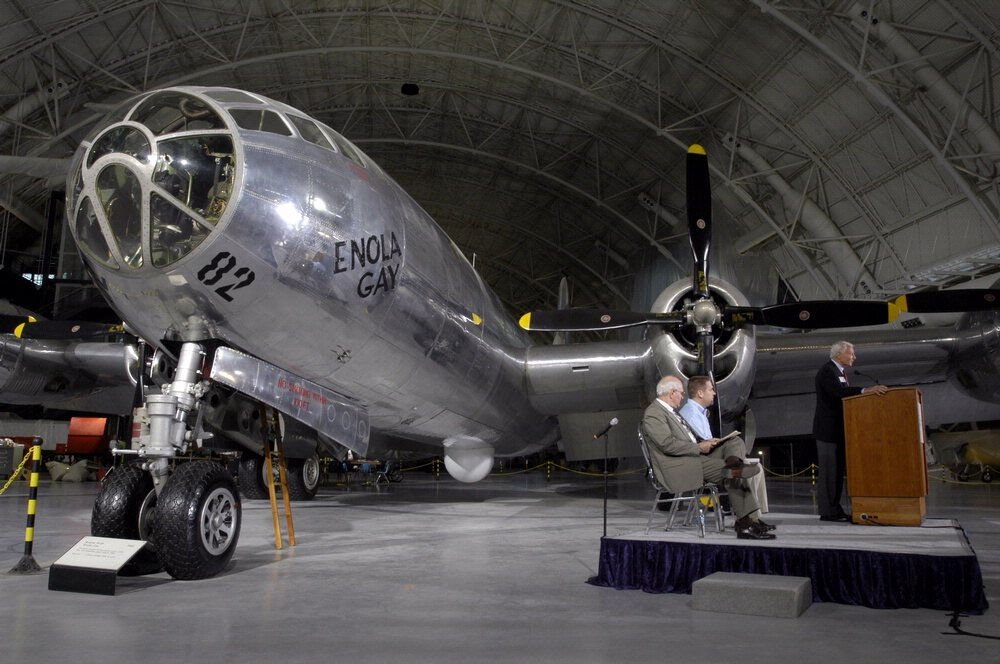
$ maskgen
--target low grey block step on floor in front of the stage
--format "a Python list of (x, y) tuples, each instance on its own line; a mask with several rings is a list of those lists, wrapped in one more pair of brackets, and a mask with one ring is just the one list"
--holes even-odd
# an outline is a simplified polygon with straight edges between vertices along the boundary
[(692, 584), (700, 611), (798, 618), (812, 604), (812, 582), (804, 576), (715, 572)]

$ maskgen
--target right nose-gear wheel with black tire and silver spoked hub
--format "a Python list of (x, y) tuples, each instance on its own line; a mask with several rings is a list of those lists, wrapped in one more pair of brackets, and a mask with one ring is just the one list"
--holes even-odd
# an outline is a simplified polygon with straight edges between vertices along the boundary
[(225, 569), (240, 537), (236, 482), (214, 461), (178, 466), (153, 515), (156, 550), (175, 579), (205, 579)]

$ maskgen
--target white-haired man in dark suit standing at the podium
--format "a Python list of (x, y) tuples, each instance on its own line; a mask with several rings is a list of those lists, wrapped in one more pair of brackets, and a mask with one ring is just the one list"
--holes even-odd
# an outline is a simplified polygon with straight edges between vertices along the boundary
[(851, 387), (847, 369), (854, 365), (854, 345), (838, 341), (830, 347), (830, 361), (816, 373), (816, 412), (813, 437), (816, 438), (816, 505), (820, 521), (850, 521), (840, 506), (847, 462), (844, 450), (844, 397), (856, 394), (885, 394), (884, 385)]

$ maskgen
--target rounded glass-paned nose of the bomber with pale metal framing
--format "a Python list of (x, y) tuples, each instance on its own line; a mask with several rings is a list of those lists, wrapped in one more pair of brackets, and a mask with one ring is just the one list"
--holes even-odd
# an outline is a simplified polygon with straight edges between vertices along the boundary
[(225, 214), (235, 152), (222, 115), (195, 93), (167, 90), (126, 104), (77, 154), (67, 190), (79, 243), (114, 270), (180, 260)]

